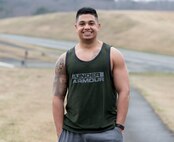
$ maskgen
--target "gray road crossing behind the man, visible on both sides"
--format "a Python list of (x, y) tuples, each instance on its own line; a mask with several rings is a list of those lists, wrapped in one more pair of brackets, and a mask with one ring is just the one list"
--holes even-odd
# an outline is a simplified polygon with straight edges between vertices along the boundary
[[(44, 46), (47, 48), (70, 49), (75, 45), (75, 42), (55, 41), (43, 38), (32, 38), (17, 35), (0, 34), (0, 38), (13, 39), (16, 41)], [(5, 44), (5, 43), (4, 43)], [(20, 47), (22, 48), (22, 47)], [(146, 71), (162, 71), (174, 72), (174, 57), (163, 56), (136, 51), (119, 49), (125, 56), (127, 66), (130, 72), (146, 72)], [(32, 64), (33, 65), (33, 64)], [(31, 66), (29, 64), (29, 66)]]

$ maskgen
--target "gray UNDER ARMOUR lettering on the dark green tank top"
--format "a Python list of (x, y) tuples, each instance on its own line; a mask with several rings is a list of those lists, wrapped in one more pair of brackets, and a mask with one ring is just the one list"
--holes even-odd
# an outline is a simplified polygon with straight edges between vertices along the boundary
[(73, 84), (104, 82), (104, 72), (72, 74), (72, 82)]

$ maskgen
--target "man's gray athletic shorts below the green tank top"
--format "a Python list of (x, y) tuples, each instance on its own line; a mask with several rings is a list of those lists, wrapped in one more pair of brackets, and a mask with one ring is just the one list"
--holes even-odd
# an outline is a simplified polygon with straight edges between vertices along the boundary
[(101, 133), (87, 134), (78, 134), (63, 130), (58, 142), (123, 142), (123, 135), (117, 127)]

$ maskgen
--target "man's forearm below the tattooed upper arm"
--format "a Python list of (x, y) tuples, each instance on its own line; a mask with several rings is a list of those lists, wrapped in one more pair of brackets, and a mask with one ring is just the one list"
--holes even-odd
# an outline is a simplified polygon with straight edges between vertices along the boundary
[(57, 96), (53, 97), (53, 118), (57, 135), (60, 136), (63, 128), (64, 101)]

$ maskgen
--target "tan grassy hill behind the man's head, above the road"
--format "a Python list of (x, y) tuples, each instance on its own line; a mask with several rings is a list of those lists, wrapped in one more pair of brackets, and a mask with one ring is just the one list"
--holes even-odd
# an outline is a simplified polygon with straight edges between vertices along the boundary
[[(0, 20), (0, 32), (78, 40), (75, 13)], [(116, 47), (174, 55), (174, 12), (99, 11), (100, 39)]]

